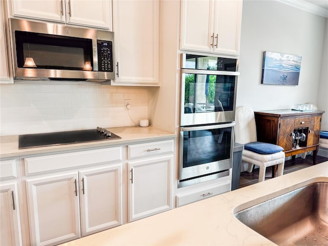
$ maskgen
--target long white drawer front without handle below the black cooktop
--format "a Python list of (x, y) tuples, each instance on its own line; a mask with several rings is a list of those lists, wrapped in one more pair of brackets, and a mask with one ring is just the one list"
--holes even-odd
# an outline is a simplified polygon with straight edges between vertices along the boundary
[(122, 148), (113, 147), (98, 150), (28, 157), (24, 159), (25, 174), (52, 172), (86, 165), (96, 165), (122, 160)]

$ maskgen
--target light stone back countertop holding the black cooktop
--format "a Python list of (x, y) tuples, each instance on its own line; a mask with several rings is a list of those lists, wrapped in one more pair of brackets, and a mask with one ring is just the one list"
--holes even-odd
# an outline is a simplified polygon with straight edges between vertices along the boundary
[(130, 144), (133, 142), (156, 141), (176, 137), (174, 133), (162, 131), (154, 127), (117, 127), (106, 129), (120, 136), (121, 139), (82, 142), (79, 144), (56, 145), (19, 150), (18, 135), (0, 136), (0, 158), (43, 154), (58, 151), (74, 151), (84, 148), (103, 148), (106, 146), (110, 147), (114, 145)]

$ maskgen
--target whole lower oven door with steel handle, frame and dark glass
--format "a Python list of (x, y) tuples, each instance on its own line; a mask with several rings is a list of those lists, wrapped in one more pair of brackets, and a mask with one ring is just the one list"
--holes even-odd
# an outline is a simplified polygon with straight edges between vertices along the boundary
[(232, 167), (236, 123), (180, 128), (179, 181), (226, 172)]

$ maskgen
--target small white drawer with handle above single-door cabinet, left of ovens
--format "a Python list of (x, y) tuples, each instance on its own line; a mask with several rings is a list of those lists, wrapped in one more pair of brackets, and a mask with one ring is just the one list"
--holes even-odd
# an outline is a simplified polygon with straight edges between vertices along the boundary
[(151, 156), (162, 153), (173, 152), (173, 140), (147, 142), (145, 144), (129, 145), (128, 158), (140, 156)]

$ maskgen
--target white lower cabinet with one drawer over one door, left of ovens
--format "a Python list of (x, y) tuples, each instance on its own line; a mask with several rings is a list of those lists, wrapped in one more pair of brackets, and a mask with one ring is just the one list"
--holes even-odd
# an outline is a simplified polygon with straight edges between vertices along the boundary
[(174, 140), (128, 146), (129, 221), (173, 208)]

